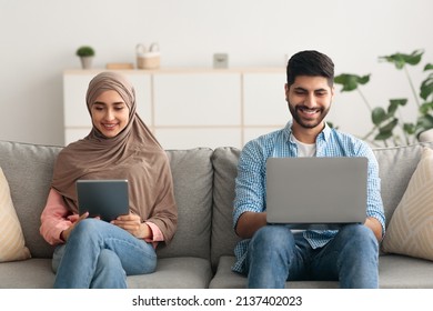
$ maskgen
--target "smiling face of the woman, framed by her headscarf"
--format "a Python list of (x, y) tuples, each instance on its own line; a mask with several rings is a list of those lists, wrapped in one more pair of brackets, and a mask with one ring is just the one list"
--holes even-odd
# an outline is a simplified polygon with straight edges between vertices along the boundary
[(93, 126), (107, 138), (117, 137), (128, 126), (129, 112), (128, 104), (113, 90), (102, 92), (90, 108)]

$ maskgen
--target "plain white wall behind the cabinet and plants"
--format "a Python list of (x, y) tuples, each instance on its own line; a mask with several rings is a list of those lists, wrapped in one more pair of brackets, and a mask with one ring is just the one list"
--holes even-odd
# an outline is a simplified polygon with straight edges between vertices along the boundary
[[(211, 67), (214, 52), (231, 67), (284, 67), (285, 54), (316, 49), (336, 74), (372, 73), (365, 94), (386, 104), (410, 90), (377, 57), (425, 49), (433, 62), (432, 11), (431, 0), (0, 0), (0, 139), (63, 143), (62, 71), (80, 67), (81, 44), (100, 68), (134, 62), (139, 42), (160, 43), (162, 67)], [(338, 94), (330, 120), (370, 128), (356, 93)]]

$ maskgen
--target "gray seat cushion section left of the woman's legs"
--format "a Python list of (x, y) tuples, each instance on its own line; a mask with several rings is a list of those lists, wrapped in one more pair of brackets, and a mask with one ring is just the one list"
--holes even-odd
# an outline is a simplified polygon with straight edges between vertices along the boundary
[(0, 264), (2, 289), (51, 289), (56, 274), (51, 259), (28, 259)]

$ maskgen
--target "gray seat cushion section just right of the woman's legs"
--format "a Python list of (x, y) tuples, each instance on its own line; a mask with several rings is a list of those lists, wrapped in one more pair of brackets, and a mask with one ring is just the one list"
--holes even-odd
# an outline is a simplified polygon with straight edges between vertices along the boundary
[(201, 258), (163, 258), (157, 271), (128, 277), (131, 289), (205, 289), (212, 278), (209, 260)]

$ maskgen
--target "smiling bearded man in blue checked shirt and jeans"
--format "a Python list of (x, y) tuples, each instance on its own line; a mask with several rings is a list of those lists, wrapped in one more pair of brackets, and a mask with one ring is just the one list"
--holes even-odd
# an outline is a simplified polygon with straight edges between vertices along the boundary
[[(249, 288), (284, 288), (286, 281), (296, 280), (377, 288), (379, 242), (385, 232), (377, 161), (364, 141), (324, 121), (334, 96), (334, 64), (328, 56), (301, 51), (289, 60), (286, 76), (285, 100), (292, 120), (283, 129), (248, 142), (239, 159), (233, 228), (242, 240), (234, 249), (232, 269), (248, 275)], [(268, 224), (265, 163), (270, 157), (366, 157), (365, 222), (339, 230), (303, 231)], [(314, 189), (306, 192), (313, 195)]]

